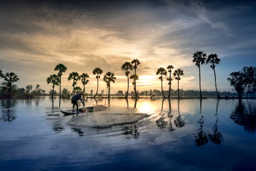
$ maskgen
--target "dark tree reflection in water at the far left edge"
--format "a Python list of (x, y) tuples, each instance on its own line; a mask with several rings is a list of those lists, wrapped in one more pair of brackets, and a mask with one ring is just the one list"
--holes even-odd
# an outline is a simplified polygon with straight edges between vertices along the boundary
[(12, 122), (17, 118), (15, 108), (16, 100), (15, 99), (5, 99), (1, 100), (1, 121)]

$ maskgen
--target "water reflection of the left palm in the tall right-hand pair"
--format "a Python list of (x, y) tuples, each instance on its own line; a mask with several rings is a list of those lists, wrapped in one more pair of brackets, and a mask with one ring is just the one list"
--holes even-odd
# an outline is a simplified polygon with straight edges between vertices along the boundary
[(200, 124), (200, 129), (198, 129), (196, 138), (196, 145), (202, 146), (206, 143), (208, 143), (208, 137), (206, 133), (203, 131), (203, 125), (204, 125), (204, 116), (202, 115), (202, 99), (200, 99), (200, 119), (198, 120), (198, 123)]

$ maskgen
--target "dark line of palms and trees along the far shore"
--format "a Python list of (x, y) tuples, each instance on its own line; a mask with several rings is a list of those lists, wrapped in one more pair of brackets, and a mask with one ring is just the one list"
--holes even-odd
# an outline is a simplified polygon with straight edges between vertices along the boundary
[[(199, 68), (199, 91), (194, 90), (182, 90), (179, 88), (179, 81), (181, 80), (181, 76), (184, 75), (184, 71), (180, 68), (176, 69), (173, 74), (172, 70), (174, 69), (174, 66), (168, 65), (167, 71), (160, 67), (158, 68), (156, 74), (160, 75), (159, 79), (161, 80), (161, 91), (153, 90), (153, 91), (142, 91), (139, 92), (137, 90), (137, 80), (139, 79), (139, 76), (137, 75), (136, 71), (138, 70), (138, 66), (140, 65), (140, 61), (138, 59), (133, 59), (131, 62), (125, 61), (123, 65), (121, 66), (121, 69), (124, 70), (125, 76), (127, 76), (127, 91), (125, 92), (125, 98), (128, 98), (128, 95), (134, 96), (135, 98), (140, 98), (140, 95), (162, 95), (163, 98), (170, 98), (170, 97), (197, 97), (199, 95), (199, 98), (202, 98), (203, 95), (206, 97), (214, 97), (213, 92), (209, 91), (201, 91), (201, 68), (200, 66), (204, 63), (208, 64), (210, 63), (210, 68), (214, 71), (215, 76), (215, 96), (217, 95), (218, 98), (221, 98), (221, 96), (225, 97), (233, 97), (236, 96), (234, 93), (230, 92), (219, 92), (217, 89), (217, 83), (216, 83), (216, 65), (220, 63), (220, 59), (218, 58), (217, 54), (210, 54), (207, 55), (202, 51), (197, 51), (193, 54), (193, 62), (195, 62), (195, 65)], [(207, 58), (206, 58), (207, 57)], [(55, 68), (55, 71), (57, 71), (56, 74), (50, 75), (46, 81), (48, 84), (51, 84), (52, 90), (49, 92), (51, 96), (59, 95), (59, 97), (70, 97), (74, 93), (78, 93), (79, 91), (83, 91), (84, 95), (86, 94), (86, 84), (89, 82), (89, 74), (82, 73), (78, 74), (77, 72), (71, 72), (68, 77), (68, 81), (72, 81), (72, 87), (73, 90), (70, 92), (68, 89), (61, 90), (61, 76), (63, 73), (67, 71), (67, 67), (63, 64), (58, 64)], [(134, 70), (134, 73), (130, 76), (131, 72)], [(168, 72), (168, 76), (167, 76)], [(101, 74), (103, 73), (102, 69), (95, 68), (92, 71), (93, 75), (96, 75), (97, 79), (97, 90), (95, 95), (93, 96), (93, 90), (91, 90), (91, 96), (94, 98), (98, 96), (102, 96), (103, 92), (101, 91), (101, 94), (98, 94), (98, 87), (99, 87), (99, 79)], [(173, 90), (171, 88), (172, 85), (172, 75), (177, 80), (178, 83), (178, 89)], [(230, 74), (230, 77), (227, 78), (227, 80), (230, 82), (230, 86), (236, 90), (238, 93), (238, 96), (241, 98), (244, 94), (248, 97), (254, 96), (256, 92), (256, 68), (255, 67), (244, 67), (242, 71), (239, 72), (232, 72)], [(167, 76), (166, 80), (168, 82), (169, 90), (163, 90), (163, 80), (164, 76)], [(0, 87), (0, 97), (12, 97), (13, 95), (19, 96), (19, 97), (28, 97), (28, 96), (39, 96), (39, 95), (46, 95), (46, 91), (40, 89), (39, 84), (36, 84), (36, 87), (34, 90), (32, 85), (28, 85), (26, 89), (24, 88), (17, 88), (17, 86), (14, 84), (19, 80), (18, 76), (11, 72), (11, 73), (3, 73), (2, 70), (0, 70), (0, 77), (3, 78), (3, 82), (1, 83)], [(129, 80), (132, 79), (133, 82), (133, 88), (134, 90), (129, 93)], [(78, 86), (78, 82), (82, 84), (82, 87)], [(113, 72), (106, 72), (103, 76), (103, 81), (106, 82), (106, 93), (108, 93), (108, 97), (110, 98), (110, 88), (111, 83), (115, 83), (116, 77)], [(59, 92), (57, 93), (55, 90), (55, 87), (59, 86)], [(122, 95), (122, 91), (118, 91), (116, 95)]]

